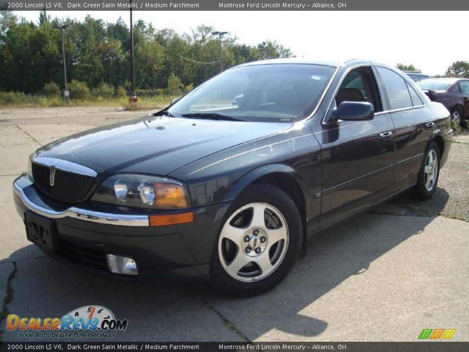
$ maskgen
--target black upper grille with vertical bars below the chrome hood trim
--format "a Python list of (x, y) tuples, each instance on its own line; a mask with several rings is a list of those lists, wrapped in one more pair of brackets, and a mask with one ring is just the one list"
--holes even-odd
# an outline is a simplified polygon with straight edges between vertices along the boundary
[(32, 164), (34, 183), (43, 193), (51, 198), (64, 201), (77, 201), (83, 199), (95, 177), (74, 174), (68, 171), (56, 169), (54, 185), (50, 185), (50, 167), (41, 164)]

